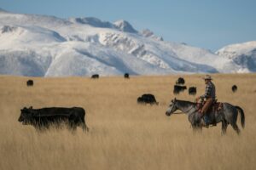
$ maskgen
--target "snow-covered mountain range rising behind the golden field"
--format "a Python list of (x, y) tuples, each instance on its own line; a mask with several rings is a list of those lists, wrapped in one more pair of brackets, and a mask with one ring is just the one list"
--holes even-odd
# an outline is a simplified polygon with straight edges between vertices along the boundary
[(256, 42), (216, 54), (165, 42), (125, 20), (61, 19), (0, 9), (0, 74), (66, 77), (256, 71)]

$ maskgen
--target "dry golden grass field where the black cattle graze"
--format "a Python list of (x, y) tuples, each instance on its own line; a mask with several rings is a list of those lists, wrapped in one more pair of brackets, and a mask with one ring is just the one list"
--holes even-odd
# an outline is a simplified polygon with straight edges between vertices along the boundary
[[(193, 133), (184, 114), (166, 116), (179, 76), (36, 78), (0, 77), (0, 169), (256, 169), (256, 75), (212, 75), (218, 101), (240, 105), (246, 126), (241, 135), (221, 125)], [(203, 75), (183, 76), (203, 94)], [(238, 91), (233, 94), (231, 86)], [(141, 94), (154, 94), (160, 105), (137, 105)], [(188, 91), (177, 99), (194, 101)], [(18, 122), (20, 109), (81, 106), (89, 133), (51, 128), (37, 133)], [(238, 126), (241, 128), (240, 117)]]

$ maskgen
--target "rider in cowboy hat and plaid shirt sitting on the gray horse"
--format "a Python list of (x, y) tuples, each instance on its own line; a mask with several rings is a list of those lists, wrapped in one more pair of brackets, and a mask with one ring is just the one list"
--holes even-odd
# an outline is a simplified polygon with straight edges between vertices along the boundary
[[(215, 95), (215, 85), (212, 82), (212, 77), (210, 75), (206, 75), (203, 77), (205, 80), (206, 86), (206, 93), (196, 98), (196, 100), (205, 100), (205, 104), (202, 106), (201, 110), (199, 111), (201, 113), (201, 117), (204, 117), (204, 123), (205, 126), (208, 127), (210, 124), (209, 117), (207, 116), (207, 111), (210, 108), (210, 106), (213, 104), (213, 102), (216, 101), (216, 95)], [(212, 123), (212, 125), (216, 125), (216, 123)]]

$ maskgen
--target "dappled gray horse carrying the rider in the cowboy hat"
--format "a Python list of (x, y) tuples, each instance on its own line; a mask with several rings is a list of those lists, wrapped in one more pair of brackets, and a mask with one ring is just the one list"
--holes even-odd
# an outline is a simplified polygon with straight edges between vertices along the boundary
[[(171, 116), (174, 111), (182, 111), (189, 116), (189, 122), (193, 127), (193, 130), (202, 129), (203, 123), (201, 120), (201, 114), (198, 112), (196, 103), (178, 99), (172, 99), (171, 104), (168, 106), (166, 116)], [(220, 111), (214, 113), (207, 113), (210, 124), (213, 122), (222, 122), (222, 134), (226, 133), (226, 129), (230, 124), (237, 134), (240, 133), (239, 127), (236, 125), (238, 112), (241, 115), (241, 127), (245, 126), (244, 112), (239, 106), (230, 105), (229, 103), (223, 103), (223, 107)]]

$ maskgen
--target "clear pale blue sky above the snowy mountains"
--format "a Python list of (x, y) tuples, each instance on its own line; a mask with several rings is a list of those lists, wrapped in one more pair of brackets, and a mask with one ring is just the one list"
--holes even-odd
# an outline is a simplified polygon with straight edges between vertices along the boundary
[(15, 13), (127, 20), (166, 41), (211, 49), (256, 40), (256, 0), (0, 0)]

